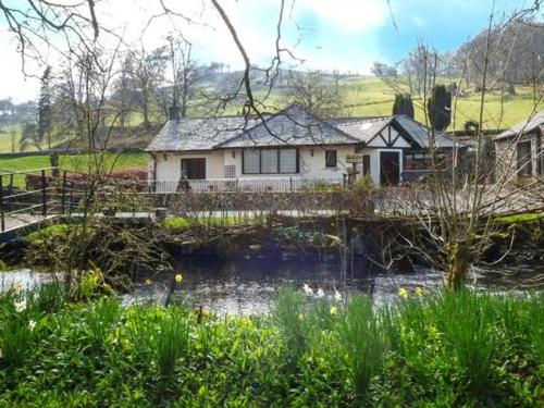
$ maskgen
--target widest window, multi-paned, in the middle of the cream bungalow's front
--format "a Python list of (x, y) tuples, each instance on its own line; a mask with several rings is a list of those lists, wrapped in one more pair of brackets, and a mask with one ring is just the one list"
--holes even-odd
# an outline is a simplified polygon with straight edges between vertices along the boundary
[(243, 162), (244, 174), (298, 173), (296, 149), (247, 149)]

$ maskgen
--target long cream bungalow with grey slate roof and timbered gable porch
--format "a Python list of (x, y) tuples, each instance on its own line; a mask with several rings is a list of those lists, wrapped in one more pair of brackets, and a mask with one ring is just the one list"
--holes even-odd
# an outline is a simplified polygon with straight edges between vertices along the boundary
[[(158, 191), (293, 189), (364, 175), (396, 185), (422, 170), (429, 146), (428, 129), (404, 115), (323, 120), (295, 103), (262, 118), (173, 119), (146, 151)], [(436, 146), (455, 144), (437, 135)]]

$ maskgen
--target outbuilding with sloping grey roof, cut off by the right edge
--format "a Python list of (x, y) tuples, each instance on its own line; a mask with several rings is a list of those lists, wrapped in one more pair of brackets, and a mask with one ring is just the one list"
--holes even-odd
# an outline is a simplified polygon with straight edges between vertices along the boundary
[(495, 137), (496, 180), (544, 175), (544, 110)]

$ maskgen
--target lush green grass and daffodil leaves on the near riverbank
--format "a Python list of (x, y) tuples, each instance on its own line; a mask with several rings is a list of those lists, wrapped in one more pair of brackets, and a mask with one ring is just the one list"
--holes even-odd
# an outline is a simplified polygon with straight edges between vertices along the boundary
[(375, 308), (287, 288), (270, 316), (220, 318), (11, 289), (0, 405), (540, 406), (543, 307), (542, 293), (410, 294)]

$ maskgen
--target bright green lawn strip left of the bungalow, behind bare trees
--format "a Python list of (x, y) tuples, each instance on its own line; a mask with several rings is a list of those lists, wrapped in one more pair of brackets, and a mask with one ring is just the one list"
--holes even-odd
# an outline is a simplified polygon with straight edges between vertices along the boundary
[[(129, 170), (129, 169), (147, 169), (147, 154), (145, 152), (124, 152), (124, 153), (104, 153), (104, 165), (109, 171), (113, 170)], [(87, 172), (89, 163), (92, 161), (88, 154), (66, 154), (60, 158), (60, 166), (67, 171)], [(24, 171), (50, 168), (51, 163), (49, 154), (28, 156), (20, 158), (0, 158), (0, 170), (8, 171)], [(4, 185), (9, 181), (4, 181)], [(15, 186), (25, 185), (24, 175), (15, 175), (13, 184)]]

